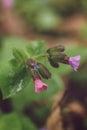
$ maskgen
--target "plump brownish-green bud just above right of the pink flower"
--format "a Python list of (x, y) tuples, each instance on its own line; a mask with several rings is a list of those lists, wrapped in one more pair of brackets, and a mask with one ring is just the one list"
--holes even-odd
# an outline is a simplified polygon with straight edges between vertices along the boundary
[(41, 63), (37, 63), (37, 65), (39, 66), (38, 72), (40, 75), (45, 79), (49, 79), (51, 77), (49, 70)]

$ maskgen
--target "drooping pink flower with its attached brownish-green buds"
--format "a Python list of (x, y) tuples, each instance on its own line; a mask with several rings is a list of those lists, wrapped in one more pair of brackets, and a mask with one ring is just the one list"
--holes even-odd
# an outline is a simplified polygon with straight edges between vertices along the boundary
[(34, 81), (35, 92), (40, 93), (47, 90), (48, 86), (41, 81), (41, 77), (49, 79), (51, 77), (49, 70), (42, 63), (36, 63), (33, 59), (28, 59), (27, 65)]

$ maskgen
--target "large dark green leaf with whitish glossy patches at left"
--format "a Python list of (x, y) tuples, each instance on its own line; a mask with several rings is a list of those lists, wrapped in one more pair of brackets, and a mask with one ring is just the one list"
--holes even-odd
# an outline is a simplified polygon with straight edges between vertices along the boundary
[(26, 67), (15, 59), (0, 65), (0, 88), (3, 98), (13, 96), (22, 90), (28, 85), (30, 79)]

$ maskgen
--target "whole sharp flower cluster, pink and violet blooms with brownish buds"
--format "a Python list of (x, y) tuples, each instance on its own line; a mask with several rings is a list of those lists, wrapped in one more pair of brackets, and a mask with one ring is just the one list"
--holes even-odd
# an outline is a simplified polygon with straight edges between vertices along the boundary
[[(44, 56), (47, 56), (48, 61), (52, 67), (58, 68), (59, 63), (70, 65), (74, 71), (77, 71), (80, 65), (80, 55), (75, 57), (69, 57), (64, 53), (64, 46), (59, 45), (56, 47), (49, 48)], [(43, 83), (41, 78), (49, 79), (51, 78), (51, 73), (45, 65), (37, 62), (35, 59), (28, 59), (26, 62), (32, 79), (34, 81), (35, 92), (40, 93), (47, 90), (47, 84)]]

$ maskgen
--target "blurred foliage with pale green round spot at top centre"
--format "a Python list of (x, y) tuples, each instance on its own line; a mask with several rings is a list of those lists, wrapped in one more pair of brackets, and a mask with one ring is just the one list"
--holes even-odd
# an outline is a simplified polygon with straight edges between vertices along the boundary
[(16, 1), (16, 9), (28, 24), (39, 31), (53, 31), (60, 23), (61, 18), (50, 6), (51, 0), (27, 0), (20, 4)]

